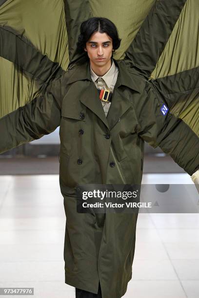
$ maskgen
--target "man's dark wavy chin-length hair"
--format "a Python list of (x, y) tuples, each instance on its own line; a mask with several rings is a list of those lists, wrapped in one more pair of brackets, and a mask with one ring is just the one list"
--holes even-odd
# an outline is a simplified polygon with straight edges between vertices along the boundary
[(121, 39), (118, 35), (118, 30), (116, 25), (106, 18), (90, 18), (81, 23), (80, 35), (78, 37), (78, 52), (82, 53), (86, 47), (86, 42), (92, 36), (93, 33), (100, 32), (106, 33), (113, 40), (113, 50), (117, 50), (120, 46)]

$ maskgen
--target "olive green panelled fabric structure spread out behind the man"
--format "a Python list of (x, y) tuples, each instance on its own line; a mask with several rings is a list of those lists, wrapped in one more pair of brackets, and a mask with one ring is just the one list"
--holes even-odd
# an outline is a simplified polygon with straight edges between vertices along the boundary
[[(37, 97), (51, 76), (67, 70), (65, 2), (0, 0), (0, 118), (9, 114), (12, 122), (11, 112)], [(75, 10), (78, 1), (73, 2)], [(107, 17), (119, 29), (122, 42), (115, 58), (124, 58), (128, 49), (132, 67), (199, 136), (199, 1), (90, 0), (90, 7), (92, 16)], [(72, 56), (73, 36), (70, 42)]]

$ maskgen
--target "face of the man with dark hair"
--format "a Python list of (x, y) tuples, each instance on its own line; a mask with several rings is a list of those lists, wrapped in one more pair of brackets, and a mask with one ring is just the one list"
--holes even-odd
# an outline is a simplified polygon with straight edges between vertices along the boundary
[(105, 66), (110, 63), (113, 41), (106, 33), (95, 32), (86, 42), (84, 49), (89, 56), (91, 66)]

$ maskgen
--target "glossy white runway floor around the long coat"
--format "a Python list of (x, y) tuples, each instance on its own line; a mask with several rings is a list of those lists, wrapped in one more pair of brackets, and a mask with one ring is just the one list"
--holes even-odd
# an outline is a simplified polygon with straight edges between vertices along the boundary
[[(191, 181), (188, 174), (145, 174), (142, 183)], [(58, 175), (0, 176), (0, 287), (34, 287), (34, 298), (75, 298), (64, 283), (64, 233)], [(123, 298), (185, 297), (199, 298), (199, 214), (140, 213)]]

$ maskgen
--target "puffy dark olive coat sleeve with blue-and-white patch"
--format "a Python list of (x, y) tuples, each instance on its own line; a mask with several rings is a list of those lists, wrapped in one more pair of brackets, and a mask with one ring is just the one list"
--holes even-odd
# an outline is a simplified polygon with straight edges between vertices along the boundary
[(154, 85), (140, 78), (141, 97), (134, 100), (137, 133), (149, 145), (159, 147), (189, 175), (199, 169), (199, 137), (170, 112), (169, 102)]

